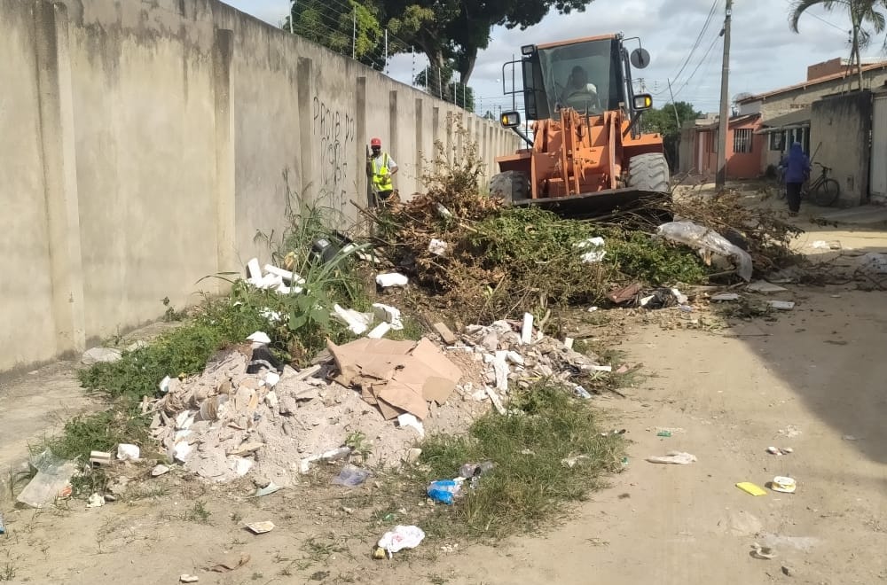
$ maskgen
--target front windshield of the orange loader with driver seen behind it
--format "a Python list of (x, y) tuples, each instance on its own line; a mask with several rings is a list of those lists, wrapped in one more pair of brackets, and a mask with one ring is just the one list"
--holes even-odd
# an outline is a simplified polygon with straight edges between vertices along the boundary
[(539, 61), (553, 118), (564, 106), (594, 114), (616, 110), (624, 101), (618, 43), (613, 40), (542, 49)]

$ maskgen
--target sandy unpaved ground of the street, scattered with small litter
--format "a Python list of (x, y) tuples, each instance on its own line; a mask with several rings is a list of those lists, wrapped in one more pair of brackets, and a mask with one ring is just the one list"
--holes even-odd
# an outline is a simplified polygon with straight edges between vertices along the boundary
[[(799, 245), (841, 241), (840, 253), (806, 250), (829, 266), (887, 251), (883, 232), (845, 230), (815, 228)], [(846, 280), (840, 272), (834, 282)], [(373, 561), (381, 534), (373, 518), (393, 513), (408, 524), (419, 498), (381, 510), (374, 502), (385, 495), (373, 480), (345, 491), (323, 473), (265, 498), (248, 498), (248, 485), (214, 490), (167, 476), (145, 483), (142, 497), (96, 510), (0, 504), (9, 530), (0, 537), (0, 581), (175, 583), (181, 573), (199, 574), (200, 583), (887, 581), (887, 294), (860, 284), (791, 285), (778, 298), (795, 300), (795, 310), (726, 331), (626, 320), (618, 348), (650, 378), (627, 400), (599, 404), (628, 430), (630, 463), (543, 534), (455, 551), (424, 542)], [(683, 432), (661, 438), (650, 430), (657, 426)], [(769, 446), (794, 452), (772, 456)], [(644, 461), (671, 449), (698, 461)], [(797, 493), (753, 497), (734, 487), (776, 475), (795, 478)], [(243, 529), (257, 520), (277, 528), (259, 536)], [(752, 558), (754, 542), (777, 557)], [(226, 552), (249, 562), (208, 572)]]

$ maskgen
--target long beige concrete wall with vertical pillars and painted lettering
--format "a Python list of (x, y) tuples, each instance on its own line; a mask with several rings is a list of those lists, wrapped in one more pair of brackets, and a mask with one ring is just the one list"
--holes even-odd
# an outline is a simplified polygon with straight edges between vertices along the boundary
[[(267, 258), (294, 199), (341, 226), (380, 136), (402, 194), (462, 115), (488, 175), (493, 122), (216, 0), (0, 0), (0, 371), (79, 352)], [(459, 144), (457, 144), (457, 142)], [(460, 152), (449, 152), (459, 156)]]

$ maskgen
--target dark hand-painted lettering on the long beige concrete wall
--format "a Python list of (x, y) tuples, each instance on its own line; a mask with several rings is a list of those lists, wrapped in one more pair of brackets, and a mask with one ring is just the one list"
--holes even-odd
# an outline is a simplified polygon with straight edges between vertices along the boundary
[(349, 168), (349, 154), (355, 152), (357, 122), (354, 116), (315, 96), (313, 134), (319, 149), (321, 191), (332, 199), (334, 208), (343, 210), (348, 204), (349, 186), (353, 188), (357, 176), (356, 169)]

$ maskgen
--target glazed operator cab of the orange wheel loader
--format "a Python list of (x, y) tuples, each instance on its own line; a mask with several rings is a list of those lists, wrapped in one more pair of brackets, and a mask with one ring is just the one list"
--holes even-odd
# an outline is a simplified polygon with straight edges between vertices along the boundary
[(506, 94), (523, 94), (528, 120), (559, 120), (561, 108), (567, 106), (585, 115), (619, 109), (634, 113), (631, 65), (621, 35), (527, 45), (521, 52), (517, 63), (523, 90), (513, 88)]

